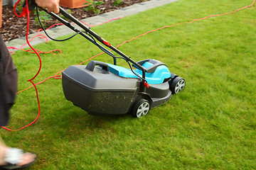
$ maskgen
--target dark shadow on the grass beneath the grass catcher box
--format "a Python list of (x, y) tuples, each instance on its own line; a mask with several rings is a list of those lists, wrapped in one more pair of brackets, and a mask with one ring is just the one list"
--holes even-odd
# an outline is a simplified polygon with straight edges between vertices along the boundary
[[(65, 107), (65, 108), (63, 108)], [(83, 111), (77, 106), (73, 106), (71, 103), (63, 105), (62, 108), (58, 108), (54, 113), (46, 115), (43, 120), (43, 124), (46, 126), (54, 126), (55, 130), (65, 128), (66, 130), (93, 130), (95, 128), (107, 129), (111, 128), (117, 122), (122, 123), (124, 121), (134, 120), (132, 115), (89, 115), (86, 111)]]

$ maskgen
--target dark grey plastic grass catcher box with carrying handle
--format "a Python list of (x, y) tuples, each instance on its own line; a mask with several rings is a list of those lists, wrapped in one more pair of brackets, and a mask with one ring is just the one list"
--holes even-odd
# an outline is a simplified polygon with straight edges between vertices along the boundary
[(95, 61), (87, 66), (72, 65), (63, 72), (63, 92), (65, 98), (72, 101), (87, 113), (96, 115), (125, 114), (134, 103), (137, 95), (138, 80), (122, 79), (108, 72), (105, 63)]

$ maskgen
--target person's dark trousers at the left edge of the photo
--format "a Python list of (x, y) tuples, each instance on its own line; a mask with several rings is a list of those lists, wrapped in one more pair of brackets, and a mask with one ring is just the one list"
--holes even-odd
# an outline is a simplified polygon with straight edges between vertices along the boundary
[(0, 35), (0, 126), (6, 126), (9, 122), (9, 110), (16, 98), (17, 81), (17, 69)]

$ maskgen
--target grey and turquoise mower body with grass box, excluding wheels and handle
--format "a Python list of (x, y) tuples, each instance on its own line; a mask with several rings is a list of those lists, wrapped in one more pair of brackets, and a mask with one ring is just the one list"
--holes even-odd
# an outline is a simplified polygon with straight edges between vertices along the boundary
[(159, 106), (171, 98), (170, 83), (176, 74), (170, 73), (165, 64), (151, 64), (152, 61), (158, 62), (141, 63), (149, 69), (156, 65), (151, 71), (148, 69), (149, 88), (143, 86), (143, 89), (142, 79), (135, 75), (140, 74), (140, 69), (134, 70), (134, 74), (130, 69), (97, 61), (87, 66), (72, 65), (63, 72), (65, 98), (90, 115), (126, 114), (142, 98), (149, 102), (150, 108)]

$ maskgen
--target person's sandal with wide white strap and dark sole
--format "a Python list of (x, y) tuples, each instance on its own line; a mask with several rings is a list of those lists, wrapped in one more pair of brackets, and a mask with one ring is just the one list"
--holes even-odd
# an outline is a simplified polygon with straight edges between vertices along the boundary
[(19, 166), (18, 164), (21, 164), (23, 162), (23, 156), (24, 156), (24, 152), (22, 149), (17, 149), (17, 148), (7, 149), (4, 157), (4, 161), (7, 164), (1, 165), (0, 169), (25, 169), (28, 166), (31, 166), (34, 162), (36, 162), (37, 157), (34, 158), (33, 162)]

